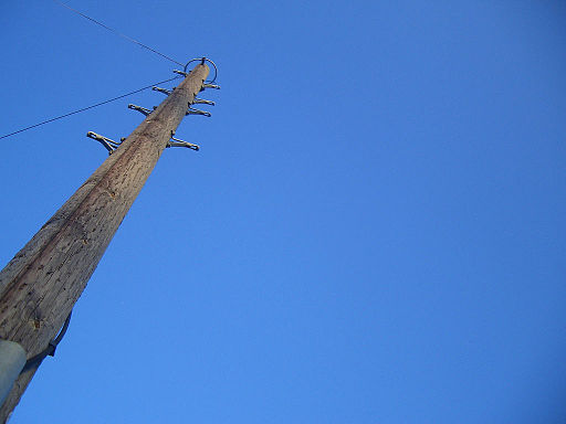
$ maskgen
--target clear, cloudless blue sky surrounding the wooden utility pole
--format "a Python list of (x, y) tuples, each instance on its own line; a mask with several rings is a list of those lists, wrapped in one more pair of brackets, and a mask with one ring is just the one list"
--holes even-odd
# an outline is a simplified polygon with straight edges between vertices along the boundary
[[(564, 423), (566, 4), (72, 1), (186, 62), (165, 151), (22, 423)], [(175, 64), (52, 1), (0, 8), (0, 132)], [(1, 140), (0, 262), (147, 92)]]

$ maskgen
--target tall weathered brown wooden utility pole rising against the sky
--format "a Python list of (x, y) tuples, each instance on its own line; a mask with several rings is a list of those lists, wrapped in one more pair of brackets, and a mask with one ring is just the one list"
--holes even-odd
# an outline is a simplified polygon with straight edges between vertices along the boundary
[[(0, 272), (0, 339), (28, 359), (57, 335), (208, 73), (202, 60)], [(40, 363), (15, 381), (1, 423)]]

